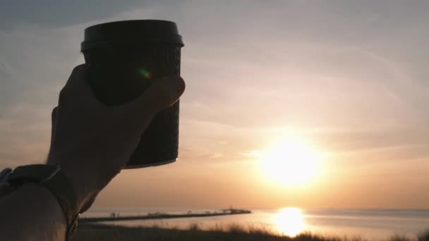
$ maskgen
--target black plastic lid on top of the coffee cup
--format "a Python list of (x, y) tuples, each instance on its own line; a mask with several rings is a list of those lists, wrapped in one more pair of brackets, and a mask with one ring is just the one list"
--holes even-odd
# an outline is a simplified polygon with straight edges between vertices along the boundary
[(85, 29), (80, 51), (111, 44), (159, 42), (181, 44), (176, 23), (166, 20), (126, 20), (92, 25)]

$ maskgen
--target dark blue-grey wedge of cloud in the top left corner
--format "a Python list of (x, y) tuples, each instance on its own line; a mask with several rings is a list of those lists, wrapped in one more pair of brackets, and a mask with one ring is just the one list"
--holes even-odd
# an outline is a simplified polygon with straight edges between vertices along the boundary
[(177, 1), (114, 0), (96, 1), (8, 1), (0, 9), (0, 30), (11, 30), (17, 25), (64, 27), (111, 18), (123, 11), (148, 8), (154, 5), (176, 4)]

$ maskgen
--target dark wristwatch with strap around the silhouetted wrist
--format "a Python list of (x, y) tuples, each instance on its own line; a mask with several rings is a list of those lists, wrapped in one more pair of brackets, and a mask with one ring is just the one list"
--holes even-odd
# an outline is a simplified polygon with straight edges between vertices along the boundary
[[(10, 168), (6, 168), (0, 175), (3, 175), (3, 177), (0, 176), (0, 185), (9, 185), (9, 190), (16, 190), (16, 188), (25, 183), (36, 183), (47, 187), (56, 197), (64, 216), (66, 216), (66, 240), (72, 240), (78, 228), (78, 217), (80, 214), (73, 185), (71, 185), (59, 166), (47, 164), (18, 166), (13, 171)], [(7, 188), (3, 187), (3, 189), (6, 190)]]

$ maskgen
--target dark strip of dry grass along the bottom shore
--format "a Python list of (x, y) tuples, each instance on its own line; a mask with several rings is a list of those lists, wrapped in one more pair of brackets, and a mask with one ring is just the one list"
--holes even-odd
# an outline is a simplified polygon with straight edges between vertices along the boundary
[[(147, 227), (123, 227), (115, 225), (83, 225), (78, 229), (74, 241), (367, 241), (362, 237), (322, 237), (312, 233), (301, 233), (296, 237), (276, 235), (265, 227), (230, 224), (214, 225), (210, 230), (202, 230), (198, 223), (192, 223), (187, 230), (179, 228), (161, 228), (154, 225)], [(429, 230), (415, 239), (394, 235), (387, 241), (429, 241)]]

